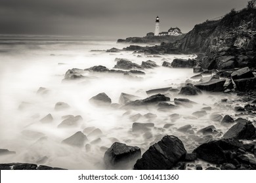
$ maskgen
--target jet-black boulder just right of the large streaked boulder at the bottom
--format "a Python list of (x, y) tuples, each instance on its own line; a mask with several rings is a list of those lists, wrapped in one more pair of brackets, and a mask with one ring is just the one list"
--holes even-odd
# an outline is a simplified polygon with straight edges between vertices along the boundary
[(236, 139), (221, 139), (201, 144), (193, 153), (198, 158), (210, 163), (220, 164), (228, 162), (226, 151), (238, 150), (242, 144)]

